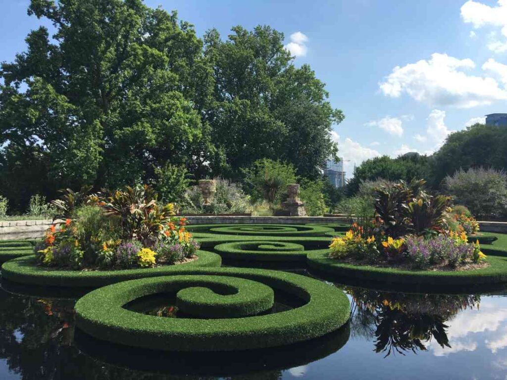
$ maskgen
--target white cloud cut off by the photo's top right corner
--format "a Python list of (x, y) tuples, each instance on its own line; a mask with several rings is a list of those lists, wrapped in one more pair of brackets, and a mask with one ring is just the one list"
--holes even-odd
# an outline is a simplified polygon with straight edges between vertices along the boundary
[[(496, 7), (469, 0), (461, 7), (461, 18), (464, 22), (471, 23), (476, 29), (483, 26), (500, 28), (501, 34), (507, 37), (507, 0), (498, 0)], [(488, 49), (495, 53), (507, 51), (507, 41), (500, 41), (495, 35), (496, 33), (490, 34), (491, 41)], [(472, 36), (471, 33), (470, 36)]]

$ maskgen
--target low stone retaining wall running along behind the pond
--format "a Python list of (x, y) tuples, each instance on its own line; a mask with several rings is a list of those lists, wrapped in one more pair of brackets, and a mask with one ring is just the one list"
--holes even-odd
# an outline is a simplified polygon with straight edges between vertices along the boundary
[[(189, 216), (190, 224), (306, 224), (343, 223), (343, 216)], [(0, 240), (39, 238), (51, 225), (51, 219), (0, 221)], [(481, 231), (507, 234), (507, 222), (480, 221)]]

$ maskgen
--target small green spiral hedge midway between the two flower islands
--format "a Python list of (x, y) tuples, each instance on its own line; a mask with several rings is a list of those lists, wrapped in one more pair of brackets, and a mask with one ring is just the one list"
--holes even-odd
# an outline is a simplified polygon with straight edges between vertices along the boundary
[(311, 248), (315, 248), (315, 246), (320, 246), (320, 250), (328, 251), (330, 239), (306, 239), (299, 238), (293, 241), (248, 240), (228, 242), (215, 245), (214, 250), (222, 258), (233, 260), (303, 262), (306, 261), (306, 254)]

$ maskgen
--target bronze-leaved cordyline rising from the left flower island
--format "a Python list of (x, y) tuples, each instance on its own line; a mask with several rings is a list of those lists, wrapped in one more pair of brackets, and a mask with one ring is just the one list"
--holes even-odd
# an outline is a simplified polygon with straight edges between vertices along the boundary
[(122, 238), (135, 238), (145, 247), (152, 246), (163, 224), (174, 216), (173, 204), (160, 206), (157, 193), (148, 185), (127, 186), (115, 191), (99, 205), (108, 216), (118, 218)]

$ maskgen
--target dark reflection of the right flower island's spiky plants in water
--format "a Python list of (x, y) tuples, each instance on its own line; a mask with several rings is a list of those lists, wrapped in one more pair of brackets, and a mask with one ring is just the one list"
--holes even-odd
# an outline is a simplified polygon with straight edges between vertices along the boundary
[(479, 308), (479, 295), (407, 294), (346, 287), (354, 300), (354, 334), (375, 339), (375, 352), (426, 351), (434, 339), (451, 348), (447, 321), (465, 309)]

